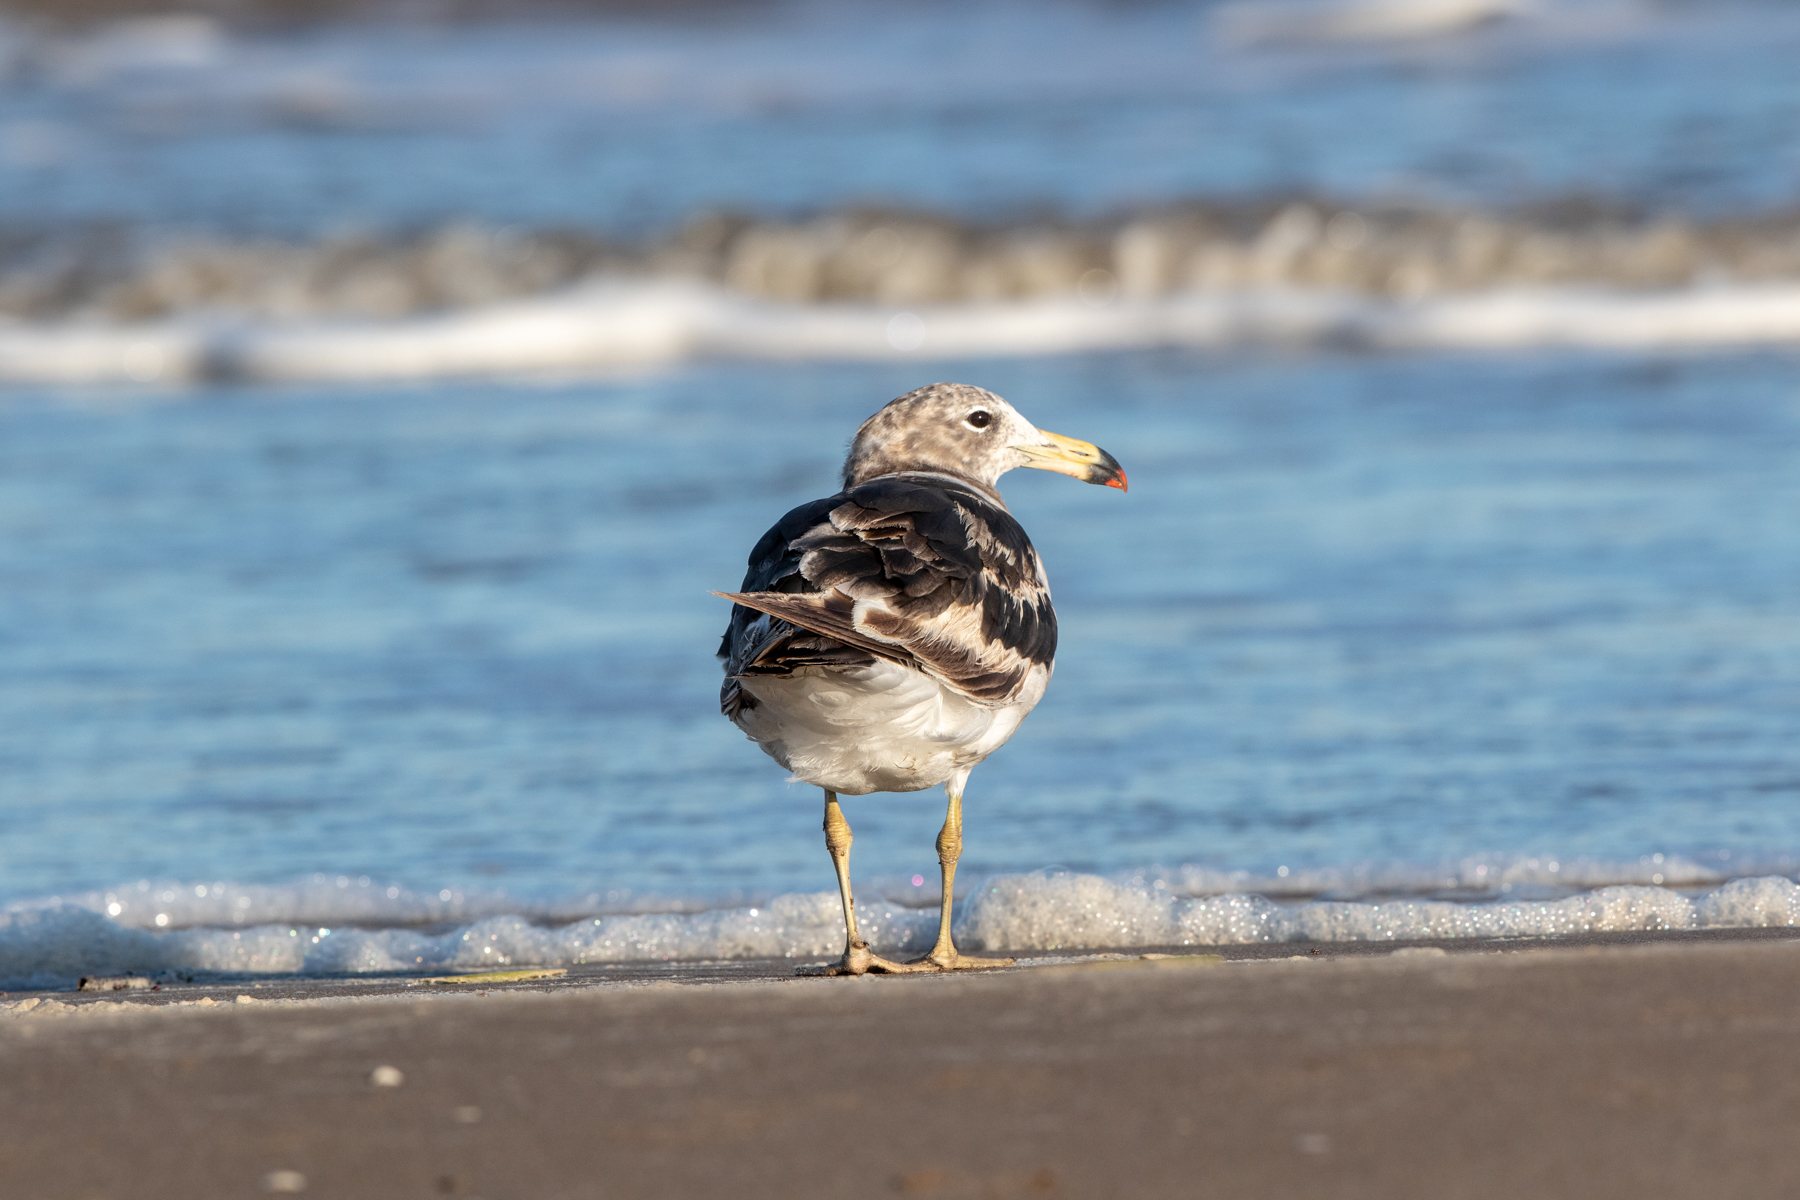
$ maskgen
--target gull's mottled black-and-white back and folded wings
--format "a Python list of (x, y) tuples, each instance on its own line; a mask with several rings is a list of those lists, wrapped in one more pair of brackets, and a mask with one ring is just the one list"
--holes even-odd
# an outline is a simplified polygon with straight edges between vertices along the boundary
[[(751, 552), (725, 675), (889, 658), (1003, 703), (1057, 651), (1057, 615), (1019, 522), (972, 488), (889, 475), (801, 506)], [(733, 703), (733, 680), (725, 705)]]

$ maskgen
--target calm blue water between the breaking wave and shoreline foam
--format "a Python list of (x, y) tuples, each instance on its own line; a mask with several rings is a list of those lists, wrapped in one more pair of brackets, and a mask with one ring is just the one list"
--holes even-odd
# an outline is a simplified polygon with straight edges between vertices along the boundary
[(13, 396), (0, 894), (828, 882), (709, 590), (947, 374), (1134, 482), (1006, 480), (1064, 649), (970, 867), (1800, 851), (1793, 358), (1168, 354)]

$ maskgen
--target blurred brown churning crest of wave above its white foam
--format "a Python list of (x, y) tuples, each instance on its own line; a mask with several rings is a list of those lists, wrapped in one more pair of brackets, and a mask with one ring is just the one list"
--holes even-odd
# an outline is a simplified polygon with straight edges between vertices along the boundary
[(477, 225), (299, 243), (0, 230), (0, 317), (32, 322), (385, 320), (594, 281), (709, 282), (797, 306), (1784, 284), (1800, 282), (1800, 210), (1697, 221), (1595, 200), (1490, 214), (1291, 198), (999, 225), (880, 210), (713, 214), (648, 243)]

